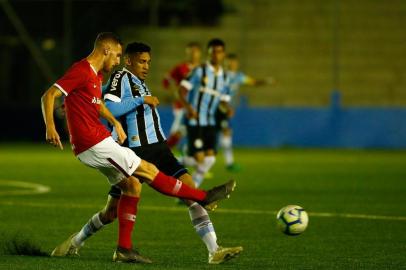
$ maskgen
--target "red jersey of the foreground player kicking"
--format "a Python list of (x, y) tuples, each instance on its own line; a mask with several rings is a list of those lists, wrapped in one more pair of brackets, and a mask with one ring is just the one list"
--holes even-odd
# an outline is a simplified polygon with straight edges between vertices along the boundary
[(75, 155), (111, 136), (99, 119), (102, 80), (102, 74), (96, 74), (83, 59), (74, 63), (55, 83), (66, 95), (66, 118)]

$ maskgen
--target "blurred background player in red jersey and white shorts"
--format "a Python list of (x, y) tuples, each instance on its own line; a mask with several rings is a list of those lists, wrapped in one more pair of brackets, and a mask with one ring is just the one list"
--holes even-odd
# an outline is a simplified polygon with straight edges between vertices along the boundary
[[(186, 45), (185, 52), (187, 60), (173, 67), (162, 80), (164, 89), (174, 92), (175, 97), (172, 104), (174, 119), (167, 140), (171, 148), (179, 143), (186, 132), (182, 123), (184, 117), (183, 104), (179, 100), (177, 90), (179, 89), (180, 82), (185, 79), (195, 67), (200, 65), (202, 48), (199, 43), (190, 42)], [(183, 93), (183, 95), (186, 95), (186, 93)]]

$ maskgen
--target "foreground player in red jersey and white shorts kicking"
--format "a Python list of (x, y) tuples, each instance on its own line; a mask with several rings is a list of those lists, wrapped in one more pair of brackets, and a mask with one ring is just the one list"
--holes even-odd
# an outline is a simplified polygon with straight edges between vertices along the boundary
[(122, 191), (117, 207), (118, 245), (113, 260), (150, 263), (150, 259), (141, 256), (132, 248), (131, 240), (141, 193), (140, 181), (163, 194), (193, 200), (206, 208), (229, 197), (235, 182), (229, 181), (209, 191), (191, 188), (163, 174), (155, 165), (141, 160), (132, 150), (113, 140), (99, 117), (105, 118), (114, 126), (119, 143), (126, 139), (126, 134), (101, 101), (102, 72), (110, 72), (120, 64), (121, 54), (120, 39), (113, 33), (100, 33), (92, 53), (73, 64), (65, 75), (44, 93), (41, 106), (47, 142), (63, 149), (55, 128), (53, 111), (55, 99), (62, 94), (66, 96), (65, 110), (74, 154), (85, 165), (98, 169), (108, 178), (111, 185), (118, 186)]

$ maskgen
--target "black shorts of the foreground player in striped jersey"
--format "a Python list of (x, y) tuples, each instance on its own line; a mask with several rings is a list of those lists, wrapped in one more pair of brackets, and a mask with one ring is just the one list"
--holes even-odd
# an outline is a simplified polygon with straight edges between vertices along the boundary
[[(133, 150), (141, 159), (154, 164), (166, 175), (179, 178), (181, 175), (188, 172), (172, 154), (166, 141), (142, 147), (134, 147), (131, 148), (131, 150)], [(112, 186), (109, 195), (118, 198), (121, 195), (121, 190), (117, 186)]]

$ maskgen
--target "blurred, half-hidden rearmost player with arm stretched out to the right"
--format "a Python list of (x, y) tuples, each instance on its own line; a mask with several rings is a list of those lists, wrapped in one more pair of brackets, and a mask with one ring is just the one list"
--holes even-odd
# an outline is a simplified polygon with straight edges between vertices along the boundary
[[(274, 83), (272, 77), (267, 81), (262, 79), (254, 79), (253, 77), (245, 74), (240, 70), (240, 63), (236, 54), (228, 54), (226, 57), (227, 65), (227, 77), (230, 83), (230, 104), (235, 103), (235, 97), (241, 87), (241, 85), (248, 86), (260, 86), (265, 83)], [(239, 171), (240, 167), (234, 163), (233, 143), (232, 143), (232, 127), (230, 124), (230, 117), (227, 114), (227, 110), (223, 107), (219, 107), (216, 112), (217, 127), (220, 130), (220, 146), (223, 148), (223, 154), (225, 159), (226, 168), (229, 171)]]

